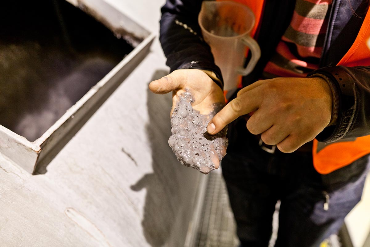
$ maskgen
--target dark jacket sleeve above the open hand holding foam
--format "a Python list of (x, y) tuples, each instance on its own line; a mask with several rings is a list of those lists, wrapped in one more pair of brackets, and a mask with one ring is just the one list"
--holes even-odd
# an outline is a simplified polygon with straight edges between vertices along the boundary
[(213, 71), (221, 84), (220, 69), (215, 65), (208, 44), (202, 38), (198, 24), (201, 0), (167, 0), (162, 7), (159, 41), (171, 72), (176, 69)]

